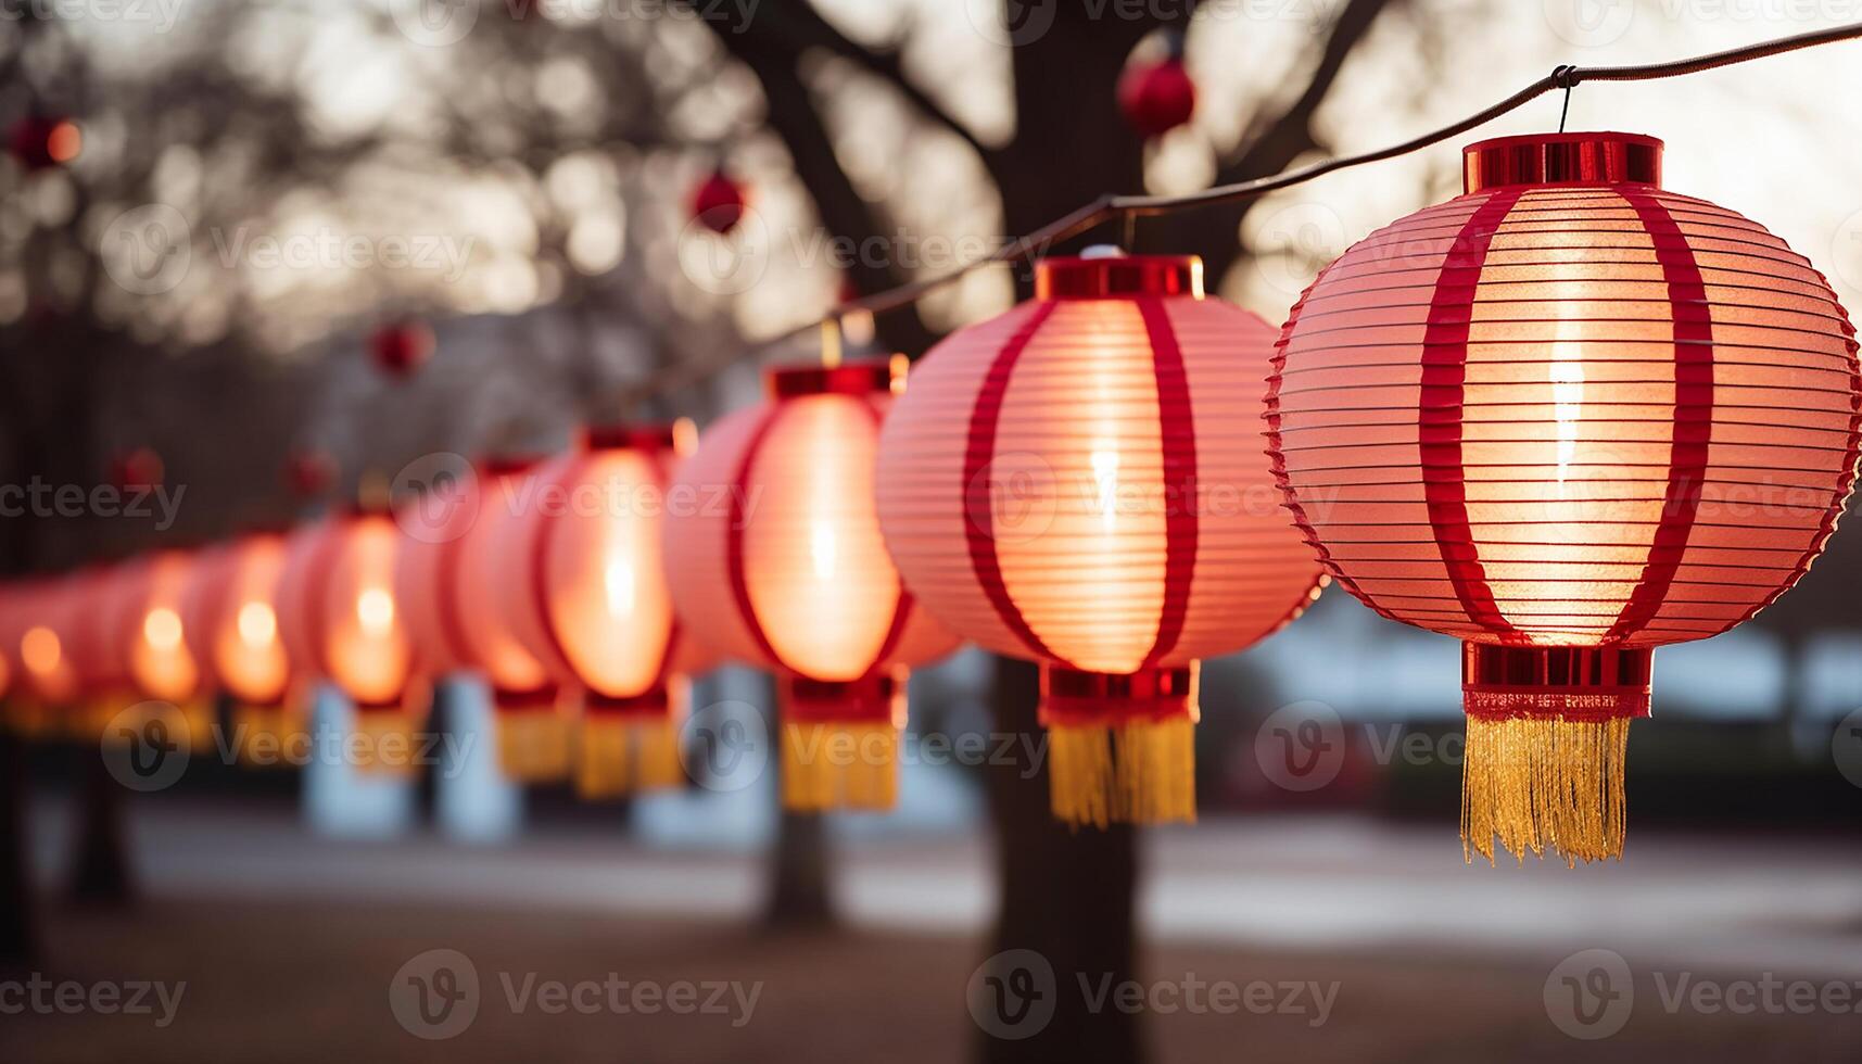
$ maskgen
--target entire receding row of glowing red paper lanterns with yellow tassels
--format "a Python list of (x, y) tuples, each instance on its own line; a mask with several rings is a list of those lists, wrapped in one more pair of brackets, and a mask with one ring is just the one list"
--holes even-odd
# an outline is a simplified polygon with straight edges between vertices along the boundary
[[(776, 369), (696, 445), (590, 430), (484, 466), (480, 505), (11, 589), (15, 682), (285, 714), (324, 676), (408, 727), (477, 669), (512, 775), (614, 794), (678, 779), (683, 678), (737, 660), (782, 680), (784, 799), (883, 809), (907, 671), (968, 639), (1041, 663), (1056, 816), (1169, 822), (1199, 662), (1329, 578), (1464, 641), (1465, 846), (1588, 861), (1622, 853), (1652, 648), (1795, 583), (1862, 440), (1823, 276), (1663, 190), (1629, 134), (1469, 147), (1464, 196), (1352, 246), (1279, 330), (1197, 259), (1089, 253), (903, 369)], [(490, 503), (519, 481), (724, 501)], [(819, 757), (849, 736), (864, 757)]]

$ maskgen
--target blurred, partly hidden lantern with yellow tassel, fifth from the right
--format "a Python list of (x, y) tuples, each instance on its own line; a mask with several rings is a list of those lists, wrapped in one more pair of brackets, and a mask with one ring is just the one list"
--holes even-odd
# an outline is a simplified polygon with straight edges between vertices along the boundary
[(499, 764), (514, 781), (570, 773), (570, 717), (544, 662), (505, 609), (508, 581), (529, 580), (519, 559), (525, 514), (536, 501), (536, 458), (493, 458), (480, 470), (479, 507), (452, 561), (452, 622), (471, 663), (492, 682)]

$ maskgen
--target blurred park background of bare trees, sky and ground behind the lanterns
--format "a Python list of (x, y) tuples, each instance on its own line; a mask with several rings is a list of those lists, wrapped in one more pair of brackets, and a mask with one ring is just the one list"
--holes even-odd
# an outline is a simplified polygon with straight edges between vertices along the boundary
[[(4, 570), (290, 522), (592, 417), (702, 425), (758, 395), (758, 361), (816, 356), (762, 341), (1102, 192), (1270, 175), (1557, 63), (1856, 15), (6, 0), (0, 483), (171, 505), (0, 518)], [(1117, 86), (1177, 41), (1194, 117), (1145, 136)], [(1661, 136), (1670, 188), (1763, 222), (1862, 306), (1856, 56), (1586, 84), (1570, 129)], [(1555, 129), (1560, 104), (1480, 136)], [(1128, 240), (1201, 255), (1279, 322), (1318, 266), (1458, 183), (1441, 145)], [(847, 341), (916, 356), (1026, 289), (979, 270)], [(1052, 825), (1033, 673), (976, 650), (914, 676), (883, 818), (778, 814), (769, 684), (737, 669), (700, 684), (689, 730), (745, 757), (624, 805), (501, 781), (469, 682), (438, 693), (417, 781), (196, 753), (138, 794), (95, 745), (9, 736), (0, 1058), (1855, 1060), (1858, 576), (1840, 533), (1758, 621), (1657, 656), (1627, 857), (1575, 870), (1464, 865), (1458, 648), (1339, 589), (1207, 663), (1203, 822), (1181, 829)], [(341, 736), (339, 699), (317, 714)], [(149, 1010), (99, 1004), (112, 986)]]

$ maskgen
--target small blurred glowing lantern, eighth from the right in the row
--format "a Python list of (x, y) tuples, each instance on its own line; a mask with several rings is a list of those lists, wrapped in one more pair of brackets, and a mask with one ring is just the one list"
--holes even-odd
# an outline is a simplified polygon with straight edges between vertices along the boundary
[[(104, 652), (114, 658), (110, 676), (127, 680), (127, 697), (101, 689), (99, 725), (134, 701), (168, 703), (181, 714), (186, 740), (212, 743), (212, 706), (203, 697), (201, 667), (188, 652), (182, 611), (194, 555), (164, 550), (117, 566), (102, 594)], [(110, 716), (104, 716), (110, 714)]]

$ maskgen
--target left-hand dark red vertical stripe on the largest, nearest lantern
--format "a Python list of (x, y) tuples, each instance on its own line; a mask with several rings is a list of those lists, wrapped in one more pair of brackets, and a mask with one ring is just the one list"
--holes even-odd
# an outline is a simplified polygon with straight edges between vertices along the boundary
[(1467, 516), (1467, 470), (1462, 460), (1462, 404), (1467, 399), (1467, 337), (1473, 330), (1480, 266), (1488, 259), (1493, 233), (1518, 201), (1518, 188), (1503, 188), (1477, 207), (1454, 235), (1441, 274), (1436, 276), (1436, 294), (1423, 330), (1423, 402), (1417, 429), (1423, 498), (1441, 565), (1467, 617), (1490, 626), (1501, 639), (1518, 635), (1518, 630), (1493, 602), (1488, 572), (1475, 548), (1473, 522)]

